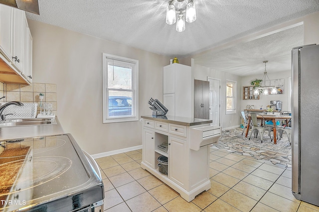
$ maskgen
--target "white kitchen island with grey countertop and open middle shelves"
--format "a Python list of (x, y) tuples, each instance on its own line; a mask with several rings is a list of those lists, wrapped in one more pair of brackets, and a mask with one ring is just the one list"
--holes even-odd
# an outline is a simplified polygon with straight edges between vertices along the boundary
[[(218, 142), (220, 126), (212, 125), (212, 120), (199, 118), (148, 115), (141, 117), (141, 167), (178, 192), (187, 202), (209, 190), (209, 147), (210, 144)], [(165, 144), (167, 151), (159, 148)], [(164, 168), (162, 166), (165, 165), (159, 164), (158, 161), (161, 156), (168, 158), (168, 165)], [(162, 170), (167, 171), (163, 173)]]

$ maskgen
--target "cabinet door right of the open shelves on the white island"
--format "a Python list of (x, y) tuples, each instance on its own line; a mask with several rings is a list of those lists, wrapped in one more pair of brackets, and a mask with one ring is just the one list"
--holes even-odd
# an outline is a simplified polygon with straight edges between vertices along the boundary
[(187, 176), (185, 176), (186, 166), (186, 141), (169, 136), (168, 140), (169, 160), (168, 178), (177, 185), (184, 187)]

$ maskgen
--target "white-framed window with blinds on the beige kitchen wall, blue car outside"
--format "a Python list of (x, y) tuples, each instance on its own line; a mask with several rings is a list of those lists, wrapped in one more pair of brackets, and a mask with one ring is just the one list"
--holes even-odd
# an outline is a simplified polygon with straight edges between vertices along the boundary
[(103, 123), (138, 120), (139, 61), (103, 53)]

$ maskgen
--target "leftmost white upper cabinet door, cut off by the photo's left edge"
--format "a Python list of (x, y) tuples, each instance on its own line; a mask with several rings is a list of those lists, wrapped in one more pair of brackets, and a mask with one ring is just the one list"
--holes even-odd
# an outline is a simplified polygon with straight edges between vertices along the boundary
[(9, 6), (0, 4), (0, 51), (11, 62), (11, 15), (13, 9)]

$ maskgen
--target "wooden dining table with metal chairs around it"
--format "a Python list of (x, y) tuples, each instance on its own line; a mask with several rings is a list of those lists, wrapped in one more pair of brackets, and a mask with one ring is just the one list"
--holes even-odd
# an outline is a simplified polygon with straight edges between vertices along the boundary
[[(245, 137), (247, 138), (249, 127), (250, 127), (250, 119), (251, 116), (250, 114), (247, 115), (248, 117), (248, 124), (247, 124), (247, 130), (246, 130), (246, 135)], [(274, 132), (274, 144), (277, 144), (277, 136), (276, 136), (276, 119), (277, 120), (286, 120), (286, 123), (288, 123), (288, 120), (291, 119), (291, 115), (277, 115), (277, 114), (263, 114), (263, 113), (258, 113), (257, 114), (257, 119), (258, 120), (265, 120), (265, 121), (272, 121), (274, 126), (273, 126), (273, 132)], [(261, 123), (265, 124), (265, 123)]]

